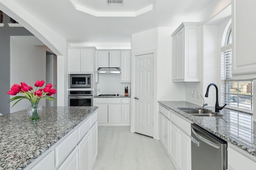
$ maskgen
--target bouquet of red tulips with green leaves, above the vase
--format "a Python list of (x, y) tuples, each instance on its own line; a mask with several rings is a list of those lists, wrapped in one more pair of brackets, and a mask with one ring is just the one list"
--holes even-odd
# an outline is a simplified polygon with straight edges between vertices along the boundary
[[(28, 86), (26, 83), (21, 82), (19, 84), (14, 84), (10, 91), (7, 93), (15, 97), (11, 98), (9, 102), (16, 101), (12, 107), (17, 104), (22, 99), (28, 99), (31, 105), (38, 104), (39, 100), (45, 98), (46, 100), (51, 100), (54, 102), (54, 98), (51, 97), (56, 94), (56, 89), (52, 88), (52, 84), (47, 84), (45, 88), (40, 88), (44, 85), (44, 80), (37, 80), (35, 83), (35, 88), (33, 90), (32, 86)], [(21, 94), (22, 96), (16, 96), (16, 94)]]

